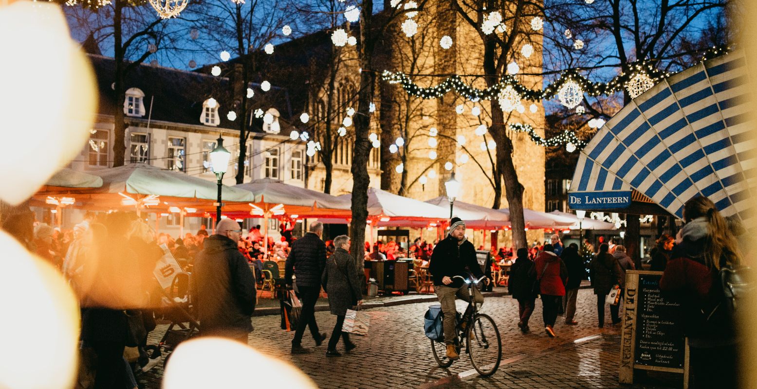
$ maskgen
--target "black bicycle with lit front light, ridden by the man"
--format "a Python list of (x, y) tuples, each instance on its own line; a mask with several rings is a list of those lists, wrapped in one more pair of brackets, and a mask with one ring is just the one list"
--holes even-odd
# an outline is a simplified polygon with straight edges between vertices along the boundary
[[(494, 324), (494, 320), (484, 313), (478, 313), (478, 307), (475, 303), (472, 288), (477, 288), (478, 282), (485, 279), (486, 275), (476, 281), (469, 281), (459, 275), (455, 275), (453, 279), (455, 278), (466, 282), (470, 296), (468, 302), (469, 316), (466, 318), (466, 325), (461, 325), (460, 322), (455, 325), (455, 349), (459, 354), (463, 344), (465, 344), (465, 350), (473, 368), (479, 375), (488, 377), (497, 372), (500, 362), (502, 362), (502, 338), (500, 338), (500, 330)], [(447, 358), (444, 338), (440, 341), (431, 340), (431, 350), (439, 366), (449, 367), (454, 362), (454, 359)]]

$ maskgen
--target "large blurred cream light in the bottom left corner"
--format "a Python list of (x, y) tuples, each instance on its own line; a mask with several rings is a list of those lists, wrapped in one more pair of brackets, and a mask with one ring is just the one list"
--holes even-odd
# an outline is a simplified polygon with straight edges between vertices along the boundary
[(3, 321), (0, 387), (73, 387), (79, 359), (73, 292), (55, 268), (2, 231), (0, 249), (0, 309), (5, 318), (23, 318)]

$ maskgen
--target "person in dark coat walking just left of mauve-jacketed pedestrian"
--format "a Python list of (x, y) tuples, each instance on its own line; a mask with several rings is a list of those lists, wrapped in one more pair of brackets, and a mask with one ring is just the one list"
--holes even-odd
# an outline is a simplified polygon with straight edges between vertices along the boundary
[[(609, 294), (614, 285), (620, 285), (623, 281), (621, 279), (621, 269), (618, 260), (615, 260), (615, 257), (612, 257), (607, 251), (609, 251), (609, 245), (606, 243), (600, 244), (600, 252), (597, 253), (597, 257), (594, 257), (589, 265), (591, 284), (594, 288), (594, 294), (597, 295), (597, 315), (599, 316), (600, 328), (603, 328), (605, 325), (605, 299), (607, 294)], [(620, 322), (620, 318), (618, 317), (619, 305), (610, 305), (610, 316), (612, 317), (613, 325)]]

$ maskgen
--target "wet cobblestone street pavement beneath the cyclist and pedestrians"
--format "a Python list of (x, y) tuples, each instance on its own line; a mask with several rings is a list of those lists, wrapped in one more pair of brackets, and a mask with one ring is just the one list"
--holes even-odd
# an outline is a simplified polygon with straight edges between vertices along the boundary
[[(366, 310), (371, 316), (367, 337), (353, 337), (357, 348), (341, 358), (327, 358), (326, 343), (314, 347), (306, 335), (305, 347), (313, 353), (291, 355), (293, 332), (279, 328), (279, 316), (253, 318), (248, 343), (274, 358), (297, 366), (326, 389), (363, 387), (621, 387), (618, 384), (620, 325), (597, 328), (597, 297), (590, 289), (578, 294), (578, 325), (564, 325), (558, 317), (556, 338), (544, 333), (541, 303), (537, 301), (531, 316), (531, 333), (522, 334), (518, 322), (518, 303), (511, 297), (488, 297), (482, 313), (492, 316), (503, 340), (503, 363), (493, 376), (481, 378), (469, 359), (461, 358), (447, 369), (440, 368), (431, 353), (430, 342), (423, 333), (423, 314), (431, 303), (410, 303)], [(465, 307), (458, 301), (458, 310)], [(609, 309), (606, 318), (609, 321)], [(316, 313), (320, 331), (331, 333), (335, 316)], [(148, 343), (160, 340), (166, 331), (160, 325), (152, 331)], [(343, 344), (338, 349), (342, 350)], [(254, 369), (251, 366), (251, 369)], [(472, 371), (472, 372), (471, 372)], [(140, 384), (160, 387), (162, 366), (140, 376)], [(623, 387), (681, 387), (680, 376), (662, 375), (646, 378), (658, 384), (634, 384)], [(659, 384), (662, 382), (662, 384)]]

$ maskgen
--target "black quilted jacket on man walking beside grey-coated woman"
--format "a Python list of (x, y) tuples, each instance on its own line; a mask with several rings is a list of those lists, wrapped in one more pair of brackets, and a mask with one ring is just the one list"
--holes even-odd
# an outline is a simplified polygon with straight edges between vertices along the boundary
[(308, 232), (291, 244), (284, 279), (287, 285), (291, 285), (291, 275), (294, 274), (298, 286), (319, 287), (325, 266), (326, 244), (314, 232)]

